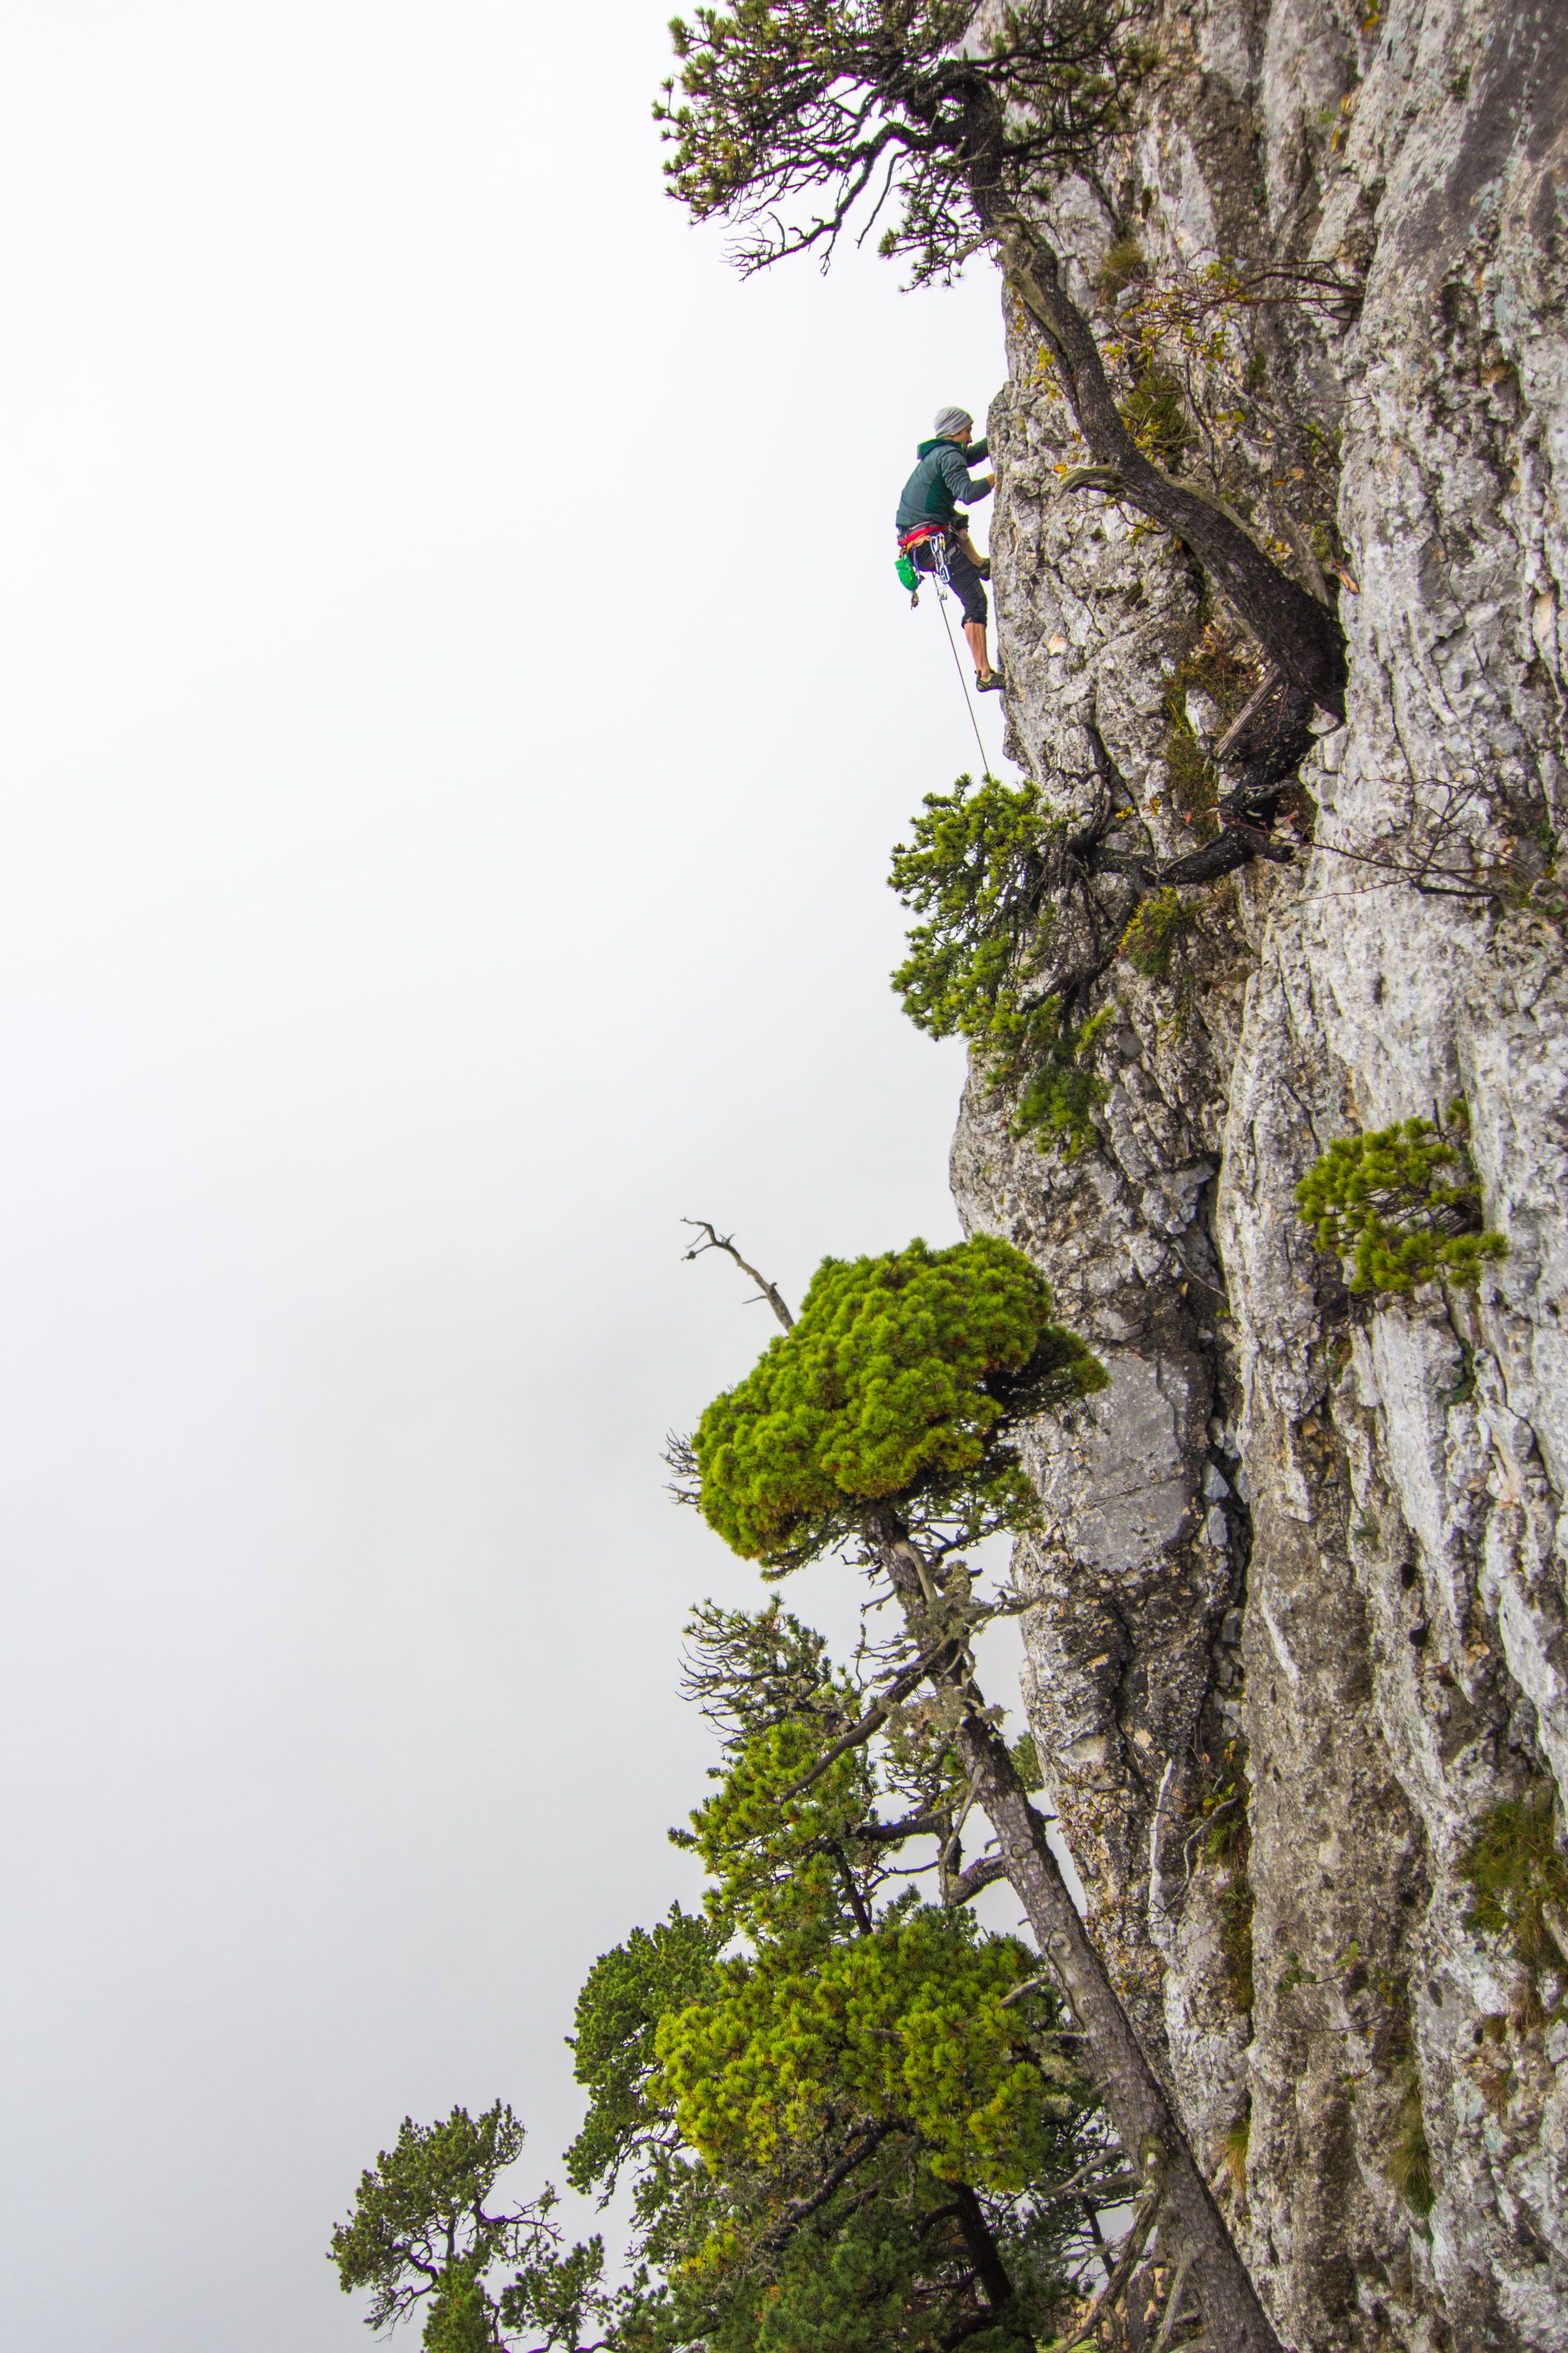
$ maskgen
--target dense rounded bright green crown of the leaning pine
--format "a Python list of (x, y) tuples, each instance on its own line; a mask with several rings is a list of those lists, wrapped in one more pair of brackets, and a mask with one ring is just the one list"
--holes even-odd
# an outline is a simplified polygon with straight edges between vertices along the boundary
[(1025, 1527), (1037, 1504), (1011, 1431), (1105, 1381), (1011, 1242), (823, 1259), (795, 1327), (698, 1421), (698, 1504), (773, 1572), (856, 1534), (875, 1504), (957, 1520), (966, 1541)]

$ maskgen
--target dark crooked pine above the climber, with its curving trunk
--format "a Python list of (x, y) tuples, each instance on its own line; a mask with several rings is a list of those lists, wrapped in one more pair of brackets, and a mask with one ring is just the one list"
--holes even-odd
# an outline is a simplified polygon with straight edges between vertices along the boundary
[(1044, 339), (1093, 487), (1173, 532), (1291, 687), (1342, 718), (1333, 612), (1140, 447), (1041, 228), (1041, 200), (1070, 174), (1100, 191), (1126, 127), (1147, 64), (1128, 14), (1119, 0), (1020, 0), (987, 38), (969, 0), (736, 0), (677, 16), (679, 73), (654, 106), (670, 191), (693, 219), (741, 231), (748, 273), (802, 252), (827, 261), (842, 235), (877, 226), (914, 282), (990, 249)]

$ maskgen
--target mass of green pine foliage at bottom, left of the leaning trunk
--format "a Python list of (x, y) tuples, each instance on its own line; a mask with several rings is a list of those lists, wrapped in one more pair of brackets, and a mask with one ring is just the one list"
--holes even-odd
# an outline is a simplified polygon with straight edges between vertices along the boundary
[(689, 1640), (722, 1755), (677, 1835), (703, 1911), (595, 1962), (571, 2035), (567, 2179), (630, 2188), (625, 2278), (562, 2247), (552, 2193), (494, 2205), (522, 2148), (498, 2106), (404, 2125), (334, 2233), (343, 2287), (376, 2327), (423, 2313), (428, 2353), (1025, 2353), (1128, 2181), (1037, 1958), (973, 1918), (997, 1866), (964, 1861), (950, 1737), (877, 1713), (886, 1668), (837, 1668), (778, 1602), (710, 1605)]

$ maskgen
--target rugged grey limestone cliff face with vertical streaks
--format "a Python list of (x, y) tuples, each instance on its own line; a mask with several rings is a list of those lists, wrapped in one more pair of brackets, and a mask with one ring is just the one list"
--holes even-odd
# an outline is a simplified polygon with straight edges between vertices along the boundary
[[(1568, 979), (1537, 915), (1389, 861), (1472, 871), (1568, 824), (1568, 28), (1559, 0), (1197, 0), (1159, 45), (1110, 209), (1072, 191), (1053, 226), (1091, 266), (1135, 238), (1154, 280), (1220, 256), (1354, 282), (1248, 315), (1253, 369), (1182, 459), (1302, 581), (1354, 581), (1349, 722), (1302, 767), (1295, 861), (1192, 894), (1168, 976), (1088, 986), (1114, 1007), (1095, 1146), (1013, 1139), (978, 1082), (964, 1104), (961, 1214), (1114, 1372), (1032, 1464), (1034, 1729), (1284, 2337), (1544, 2353), (1568, 1988), (1465, 1925), (1460, 1859), (1500, 1798), (1568, 1793)], [(1077, 278), (1103, 320), (1107, 287)], [(1086, 812), (1098, 720), (1126, 824), (1173, 854), (1204, 831), (1178, 720), (1218, 729), (1194, 647), (1239, 633), (1180, 546), (1063, 487), (1081, 445), (1009, 334), (1011, 748)], [(1114, 889), (1086, 920), (1114, 936)], [(1472, 1297), (1352, 1299), (1298, 1179), (1455, 1096), (1509, 1257)]]

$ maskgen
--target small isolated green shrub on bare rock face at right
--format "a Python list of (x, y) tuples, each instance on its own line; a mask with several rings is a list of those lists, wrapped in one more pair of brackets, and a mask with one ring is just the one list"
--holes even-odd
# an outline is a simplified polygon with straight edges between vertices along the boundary
[(1401, 1120), (1340, 1136), (1295, 1188), (1319, 1249), (1345, 1261), (1352, 1292), (1399, 1297), (1439, 1278), (1474, 1289), (1488, 1259), (1507, 1257), (1481, 1224), (1481, 1186), (1462, 1118), (1448, 1127)]

